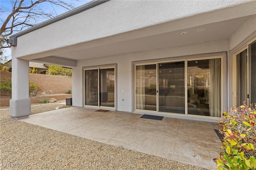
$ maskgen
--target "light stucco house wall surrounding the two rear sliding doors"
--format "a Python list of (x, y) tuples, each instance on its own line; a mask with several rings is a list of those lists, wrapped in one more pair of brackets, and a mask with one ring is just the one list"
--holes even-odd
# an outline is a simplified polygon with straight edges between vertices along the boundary
[[(162, 49), (154, 49), (148, 51), (140, 51), (135, 53), (127, 53), (122, 55), (114, 55), (96, 59), (81, 60), (77, 68), (73, 69), (73, 106), (83, 106), (83, 67), (100, 66), (105, 64), (117, 63), (117, 110), (118, 111), (133, 111), (133, 64), (135, 61), (148, 61), (154, 59), (172, 60), (173, 57), (185, 59), (188, 55), (211, 56), (209, 53), (218, 53), (229, 51), (229, 39), (221, 39), (217, 41), (208, 41), (196, 44), (188, 44), (176, 47), (168, 47)], [(177, 58), (175, 58), (177, 59)], [(227, 108), (227, 70), (226, 58), (223, 59), (223, 103), (224, 108)], [(124, 92), (122, 92), (122, 90)], [(122, 101), (124, 99), (124, 101)]]

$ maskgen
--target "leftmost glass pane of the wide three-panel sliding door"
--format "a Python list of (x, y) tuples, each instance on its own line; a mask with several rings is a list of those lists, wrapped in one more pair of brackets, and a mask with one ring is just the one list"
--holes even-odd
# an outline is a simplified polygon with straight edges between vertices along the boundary
[(136, 66), (136, 109), (156, 111), (156, 64)]

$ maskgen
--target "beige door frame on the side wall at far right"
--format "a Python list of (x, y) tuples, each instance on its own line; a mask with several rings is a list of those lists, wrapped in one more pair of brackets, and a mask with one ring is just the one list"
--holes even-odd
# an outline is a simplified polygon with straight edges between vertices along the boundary
[[(244, 45), (242, 48), (238, 49), (236, 52), (232, 53), (232, 105), (234, 105), (234, 107), (238, 107), (238, 105), (240, 106), (240, 104), (237, 104), (238, 101), (238, 97), (237, 96), (237, 92), (238, 92), (238, 80), (237, 80), (237, 62), (236, 62), (236, 56), (241, 53), (244, 50), (247, 50), (247, 94), (250, 95), (250, 56), (249, 56), (249, 45), (251, 43), (253, 43), (254, 41), (256, 41), (256, 38), (252, 39), (251, 41), (249, 41), (248, 43), (246, 43), (246, 45)], [(250, 96), (249, 98), (246, 99), (246, 104), (249, 104), (250, 102)]]

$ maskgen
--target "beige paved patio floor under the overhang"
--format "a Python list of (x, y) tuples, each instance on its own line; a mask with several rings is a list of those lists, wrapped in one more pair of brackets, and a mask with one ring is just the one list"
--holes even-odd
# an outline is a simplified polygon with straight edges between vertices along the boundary
[(221, 141), (218, 123), (164, 117), (162, 121), (120, 111), (69, 107), (30, 115), (19, 121), (56, 131), (123, 146), (139, 152), (216, 169)]

